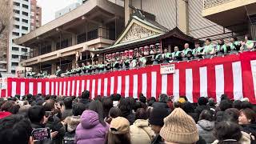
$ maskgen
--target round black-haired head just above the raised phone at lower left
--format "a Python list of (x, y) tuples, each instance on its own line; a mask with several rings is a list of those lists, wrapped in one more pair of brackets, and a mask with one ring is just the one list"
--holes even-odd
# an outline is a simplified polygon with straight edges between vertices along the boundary
[(42, 118), (46, 115), (46, 111), (42, 106), (32, 106), (29, 108), (27, 112), (28, 118), (30, 118), (30, 122), (41, 122)]

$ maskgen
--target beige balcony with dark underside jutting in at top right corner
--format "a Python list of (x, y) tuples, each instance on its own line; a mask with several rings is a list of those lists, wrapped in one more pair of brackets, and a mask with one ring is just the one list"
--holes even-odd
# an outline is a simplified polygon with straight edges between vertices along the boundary
[(246, 27), (256, 14), (256, 0), (203, 0), (202, 16), (233, 31)]

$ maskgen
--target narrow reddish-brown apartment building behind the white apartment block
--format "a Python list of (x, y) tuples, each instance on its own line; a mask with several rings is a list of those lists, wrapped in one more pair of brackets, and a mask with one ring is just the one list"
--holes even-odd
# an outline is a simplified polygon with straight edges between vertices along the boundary
[(38, 6), (37, 0), (31, 0), (30, 9), (30, 30), (35, 30), (42, 26), (42, 8)]

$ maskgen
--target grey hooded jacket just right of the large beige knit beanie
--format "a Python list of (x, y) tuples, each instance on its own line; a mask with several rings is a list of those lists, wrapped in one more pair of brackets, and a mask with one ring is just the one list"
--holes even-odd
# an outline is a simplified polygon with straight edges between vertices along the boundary
[(214, 122), (202, 119), (197, 124), (199, 135), (206, 141), (206, 143), (214, 142)]

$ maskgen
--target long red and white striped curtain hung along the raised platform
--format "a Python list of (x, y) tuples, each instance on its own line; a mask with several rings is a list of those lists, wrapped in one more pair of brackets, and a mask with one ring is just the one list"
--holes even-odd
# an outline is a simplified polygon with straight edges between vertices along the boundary
[(202, 97), (220, 101), (222, 94), (232, 99), (249, 98), (256, 103), (256, 53), (245, 52), (200, 61), (175, 63), (174, 74), (160, 74), (160, 66), (121, 70), (106, 74), (70, 78), (8, 78), (8, 95), (55, 94), (90, 97), (121, 94), (124, 97), (158, 98), (159, 94), (186, 95), (190, 102)]

